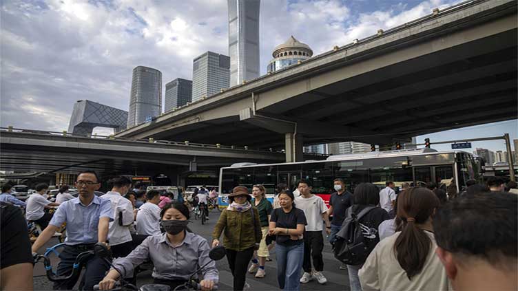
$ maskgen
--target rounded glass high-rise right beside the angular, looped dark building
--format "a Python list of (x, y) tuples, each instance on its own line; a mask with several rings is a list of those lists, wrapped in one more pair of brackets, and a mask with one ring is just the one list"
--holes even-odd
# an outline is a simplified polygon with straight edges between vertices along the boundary
[(162, 113), (162, 73), (139, 65), (133, 69), (130, 111), (127, 128), (139, 125)]

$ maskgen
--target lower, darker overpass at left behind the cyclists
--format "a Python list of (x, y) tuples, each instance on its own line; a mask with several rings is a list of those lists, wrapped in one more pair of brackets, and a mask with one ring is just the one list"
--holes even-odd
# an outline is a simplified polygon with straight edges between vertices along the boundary
[[(306, 155), (319, 160), (323, 155)], [(0, 129), (0, 171), (78, 173), (93, 169), (103, 176), (179, 177), (189, 171), (213, 171), (236, 162), (283, 162), (284, 153), (162, 140), (73, 136), (23, 129)], [(194, 166), (194, 164), (196, 166)]]

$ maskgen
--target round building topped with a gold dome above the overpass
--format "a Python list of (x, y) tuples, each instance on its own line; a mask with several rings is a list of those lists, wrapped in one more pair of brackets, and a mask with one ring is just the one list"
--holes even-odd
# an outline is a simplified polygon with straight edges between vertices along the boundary
[(290, 38), (282, 45), (278, 45), (271, 54), (273, 59), (267, 67), (267, 72), (276, 72), (284, 67), (296, 64), (298, 61), (304, 61), (313, 56), (313, 50), (305, 43), (301, 43), (296, 38)]

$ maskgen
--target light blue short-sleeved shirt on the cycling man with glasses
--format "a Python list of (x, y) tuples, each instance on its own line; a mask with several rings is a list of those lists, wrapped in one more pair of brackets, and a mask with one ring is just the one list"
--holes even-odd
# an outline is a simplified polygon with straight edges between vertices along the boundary
[(94, 196), (92, 203), (85, 206), (77, 197), (60, 204), (50, 224), (60, 227), (63, 222), (67, 223), (65, 244), (94, 244), (98, 240), (101, 217), (109, 217), (110, 222), (114, 220), (110, 200)]

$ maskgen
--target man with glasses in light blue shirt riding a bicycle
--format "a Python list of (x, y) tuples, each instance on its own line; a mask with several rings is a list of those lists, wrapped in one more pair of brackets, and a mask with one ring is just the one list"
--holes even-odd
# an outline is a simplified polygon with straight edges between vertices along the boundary
[[(77, 255), (92, 250), (96, 242), (99, 241), (107, 246), (108, 225), (114, 219), (110, 200), (94, 194), (100, 186), (99, 177), (94, 171), (79, 173), (76, 180), (79, 197), (63, 202), (59, 206), (47, 228), (32, 245), (34, 254), (54, 235), (63, 222), (67, 223), (66, 246), (59, 254), (61, 259), (57, 268), (59, 275), (70, 274)], [(103, 279), (110, 266), (96, 256), (90, 257), (85, 266), (81, 285), (84, 290), (93, 290), (94, 285)], [(77, 279), (79, 278), (71, 278), (64, 283), (55, 282), (54, 289), (72, 290)]]

